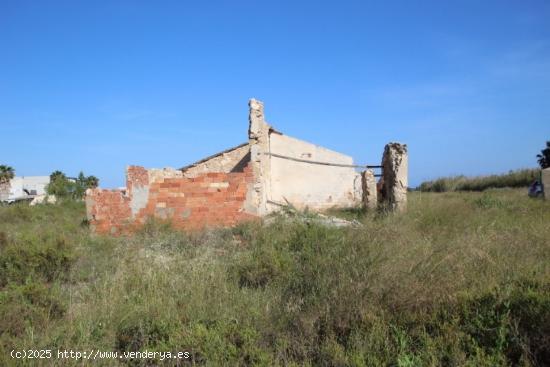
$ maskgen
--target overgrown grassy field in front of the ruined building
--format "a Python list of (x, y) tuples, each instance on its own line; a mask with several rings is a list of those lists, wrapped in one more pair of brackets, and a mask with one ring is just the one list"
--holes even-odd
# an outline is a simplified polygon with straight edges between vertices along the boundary
[(278, 218), (91, 236), (82, 203), (0, 208), (0, 365), (12, 349), (188, 351), (211, 366), (548, 366), (550, 202), (413, 192), (360, 228)]

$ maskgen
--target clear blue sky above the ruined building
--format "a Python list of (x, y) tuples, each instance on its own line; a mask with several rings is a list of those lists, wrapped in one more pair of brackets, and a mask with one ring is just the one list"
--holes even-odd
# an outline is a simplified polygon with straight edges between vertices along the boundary
[(278, 130), (410, 180), (536, 166), (550, 140), (550, 2), (0, 1), (0, 164), (19, 175), (181, 167)]

